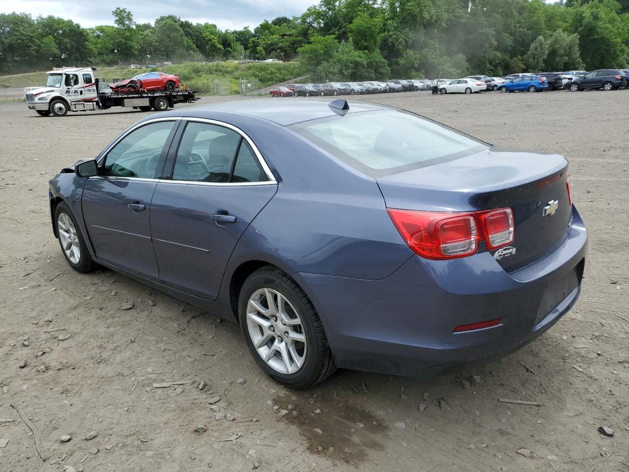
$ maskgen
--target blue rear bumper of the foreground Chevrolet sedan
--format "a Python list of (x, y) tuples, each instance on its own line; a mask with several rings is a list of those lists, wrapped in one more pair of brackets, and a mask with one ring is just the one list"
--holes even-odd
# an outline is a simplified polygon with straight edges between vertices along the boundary
[[(303, 273), (294, 279), (315, 304), (338, 366), (430, 377), (516, 351), (574, 305), (587, 232), (573, 214), (557, 249), (511, 274), (483, 252), (451, 261), (413, 256), (377, 281)], [(453, 332), (497, 318), (495, 327)]]

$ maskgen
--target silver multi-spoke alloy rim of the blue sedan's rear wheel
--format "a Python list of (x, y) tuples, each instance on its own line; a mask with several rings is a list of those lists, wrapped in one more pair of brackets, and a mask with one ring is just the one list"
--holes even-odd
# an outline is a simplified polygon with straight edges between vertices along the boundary
[(306, 334), (299, 313), (271, 288), (253, 292), (247, 302), (247, 329), (253, 347), (270, 368), (294, 374), (306, 361)]

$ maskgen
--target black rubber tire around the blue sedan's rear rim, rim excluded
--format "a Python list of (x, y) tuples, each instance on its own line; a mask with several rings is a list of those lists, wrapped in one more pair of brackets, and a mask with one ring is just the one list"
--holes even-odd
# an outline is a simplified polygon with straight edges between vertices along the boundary
[[(282, 374), (271, 368), (253, 347), (247, 327), (247, 304), (250, 296), (260, 288), (271, 288), (281, 293), (299, 312), (306, 335), (306, 359), (303, 366), (293, 374)], [(328, 378), (337, 369), (332, 357), (323, 323), (315, 306), (304, 291), (284, 271), (274, 266), (265, 266), (253, 272), (243, 283), (238, 296), (238, 319), (240, 329), (251, 351), (253, 359), (271, 378), (289, 388), (310, 388)]]

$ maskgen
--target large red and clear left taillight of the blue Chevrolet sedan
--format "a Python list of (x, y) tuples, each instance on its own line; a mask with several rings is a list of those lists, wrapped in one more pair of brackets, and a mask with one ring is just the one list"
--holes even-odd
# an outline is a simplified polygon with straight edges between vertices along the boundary
[[(484, 239), (488, 249), (513, 242), (515, 223), (511, 208), (472, 213), (387, 208), (391, 221), (408, 247), (426, 259), (472, 256)], [(480, 226), (480, 229), (479, 229)]]

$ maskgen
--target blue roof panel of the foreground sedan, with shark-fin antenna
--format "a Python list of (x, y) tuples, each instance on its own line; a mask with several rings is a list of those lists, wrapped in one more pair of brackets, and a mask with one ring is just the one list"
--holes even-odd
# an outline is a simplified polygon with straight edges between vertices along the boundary
[[(344, 99), (340, 99), (343, 100)], [(326, 116), (338, 115), (337, 109), (330, 108), (329, 100), (291, 99), (275, 101), (270, 99), (237, 100), (211, 105), (192, 106), (164, 115), (188, 116), (191, 118), (212, 118), (213, 112), (227, 112), (238, 115), (254, 116), (263, 120), (273, 121), (278, 125), (288, 126), (301, 121), (316, 120)], [(362, 101), (350, 101), (349, 110), (345, 113), (361, 111), (391, 110), (391, 107)]]

